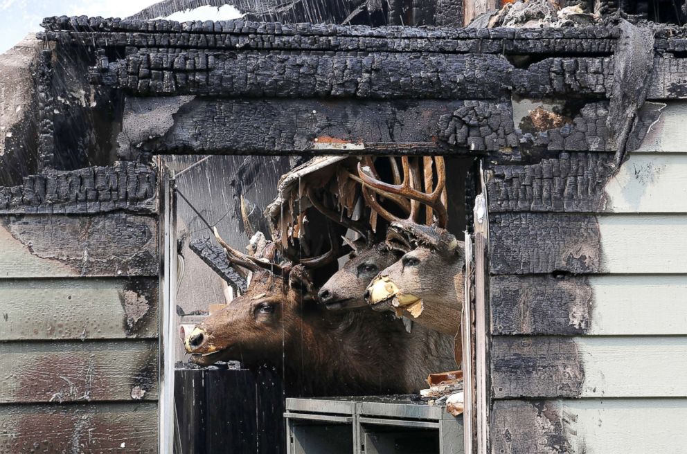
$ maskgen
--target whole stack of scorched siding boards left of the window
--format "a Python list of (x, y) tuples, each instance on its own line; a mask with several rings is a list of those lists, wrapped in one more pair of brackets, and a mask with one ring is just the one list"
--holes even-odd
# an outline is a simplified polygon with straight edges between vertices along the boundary
[(0, 188), (0, 451), (157, 452), (157, 195), (136, 163)]

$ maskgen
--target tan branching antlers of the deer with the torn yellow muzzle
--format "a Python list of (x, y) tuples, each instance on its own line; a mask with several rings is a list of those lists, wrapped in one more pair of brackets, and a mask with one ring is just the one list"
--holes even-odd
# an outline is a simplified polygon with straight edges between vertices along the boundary
[[(429, 162), (425, 160), (425, 190), (427, 190), (427, 192), (422, 192), (422, 190), (417, 189), (420, 186), (418, 167), (413, 166), (411, 168), (408, 156), (401, 156), (401, 163), (403, 167), (403, 179), (400, 184), (389, 184), (380, 181), (380, 179), (375, 176), (376, 172), (371, 158), (366, 158), (364, 165), (358, 163), (358, 176), (364, 184), (363, 195), (368, 205), (389, 222), (401, 221), (402, 219), (385, 210), (380, 203), (377, 202), (374, 194), (367, 192), (366, 188), (371, 188), (385, 197), (388, 196), (388, 194), (393, 194), (397, 197), (405, 197), (411, 200), (410, 216), (406, 219), (407, 221), (415, 221), (419, 204), (422, 203), (427, 206), (427, 219), (429, 222), (431, 222), (431, 209), (436, 213), (438, 226), (440, 228), (445, 228), (448, 221), (448, 215), (445, 203), (446, 167), (443, 156), (436, 156), (434, 158), (437, 172), (437, 183), (434, 190), (431, 189), (431, 183), (427, 183), (427, 181), (431, 181), (431, 174), (428, 174), (427, 171)], [(416, 203), (413, 204), (412, 201)]]

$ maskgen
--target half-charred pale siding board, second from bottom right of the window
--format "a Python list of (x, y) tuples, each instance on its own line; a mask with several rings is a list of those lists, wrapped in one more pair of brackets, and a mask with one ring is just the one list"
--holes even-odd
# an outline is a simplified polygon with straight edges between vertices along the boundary
[(492, 338), (492, 390), (510, 397), (687, 397), (687, 336)]

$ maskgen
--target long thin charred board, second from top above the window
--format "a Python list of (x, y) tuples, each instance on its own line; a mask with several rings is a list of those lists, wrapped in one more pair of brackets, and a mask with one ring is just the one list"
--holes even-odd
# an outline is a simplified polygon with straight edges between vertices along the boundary
[[(186, 25), (186, 24), (184, 24)], [(286, 24), (273, 24), (282, 25)], [(307, 24), (310, 25), (310, 24)], [(384, 29), (384, 28), (382, 28)], [(80, 46), (85, 43), (99, 48), (207, 48), (227, 51), (270, 50), (270, 51), (385, 51), (385, 52), (431, 52), (431, 53), (493, 53), (506, 55), (555, 54), (555, 55), (611, 55), (615, 39), (566, 37), (564, 34), (546, 33), (546, 29), (456, 29), (433, 30), (404, 27), (406, 33), (391, 29), (386, 35), (378, 28), (368, 33), (356, 33), (359, 28), (350, 27), (332, 30), (331, 33), (289, 35), (286, 33), (154, 33), (145, 31), (48, 31), (42, 36), (62, 44)], [(524, 35), (530, 30), (529, 35)], [(573, 31), (577, 29), (571, 29)], [(538, 33), (539, 32), (539, 33)], [(521, 37), (519, 37), (521, 36)]]

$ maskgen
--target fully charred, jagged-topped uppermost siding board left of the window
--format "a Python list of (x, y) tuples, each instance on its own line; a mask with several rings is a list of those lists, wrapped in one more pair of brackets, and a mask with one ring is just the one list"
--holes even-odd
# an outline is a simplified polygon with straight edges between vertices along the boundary
[(46, 170), (24, 184), (0, 187), (0, 214), (90, 214), (127, 210), (157, 212), (157, 174), (152, 167), (117, 162), (111, 167)]

